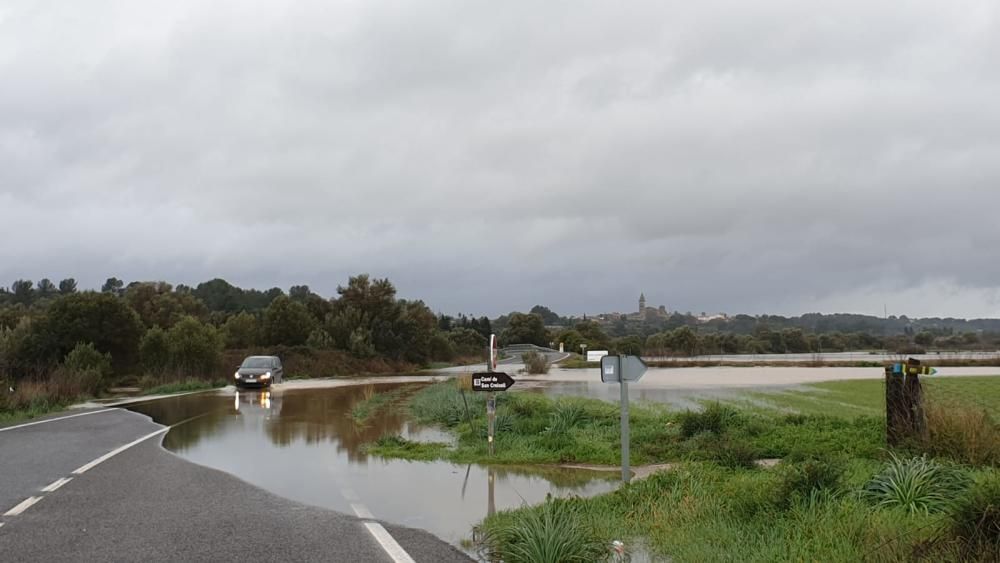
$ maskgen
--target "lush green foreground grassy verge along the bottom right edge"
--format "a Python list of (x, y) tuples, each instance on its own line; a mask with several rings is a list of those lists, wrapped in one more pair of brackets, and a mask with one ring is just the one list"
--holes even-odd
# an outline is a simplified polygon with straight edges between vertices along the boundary
[[(543, 561), (532, 556), (534, 546), (558, 549), (552, 532), (570, 530), (576, 543), (603, 547), (590, 548), (582, 559), (589, 561), (607, 557), (613, 540), (627, 549), (638, 538), (670, 561), (990, 561), (997, 554), (989, 543), (995, 531), (979, 545), (955, 532), (961, 503), (909, 511), (868, 498), (879, 462), (847, 463), (833, 480), (803, 480), (803, 467), (685, 464), (600, 497), (498, 513), (481, 526), (482, 548), (505, 561)], [(970, 482), (998, 482), (995, 472), (967, 473)]]

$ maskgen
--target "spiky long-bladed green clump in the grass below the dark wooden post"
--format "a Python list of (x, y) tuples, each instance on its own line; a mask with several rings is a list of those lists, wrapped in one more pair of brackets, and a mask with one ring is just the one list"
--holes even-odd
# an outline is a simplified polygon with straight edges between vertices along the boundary
[(890, 453), (889, 463), (865, 487), (864, 494), (881, 507), (910, 513), (942, 512), (968, 485), (964, 473), (926, 455), (904, 458)]

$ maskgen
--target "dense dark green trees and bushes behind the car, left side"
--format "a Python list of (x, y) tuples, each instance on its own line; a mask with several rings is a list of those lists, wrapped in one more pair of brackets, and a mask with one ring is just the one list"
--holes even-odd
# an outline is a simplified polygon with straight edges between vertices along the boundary
[(72, 365), (103, 377), (214, 374), (225, 350), (298, 347), (355, 358), (426, 365), (485, 349), (489, 319), (436, 315), (400, 299), (387, 279), (351, 277), (324, 298), (307, 285), (288, 292), (243, 289), (214, 279), (196, 287), (124, 283), (100, 291), (75, 280), (17, 280), (0, 290), (0, 370), (46, 377)]

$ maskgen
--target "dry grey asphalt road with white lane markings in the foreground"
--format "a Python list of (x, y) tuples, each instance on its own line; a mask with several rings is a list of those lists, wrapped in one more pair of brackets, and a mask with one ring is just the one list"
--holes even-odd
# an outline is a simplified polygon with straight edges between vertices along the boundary
[[(118, 409), (0, 429), (0, 559), (469, 561), (427, 532), (299, 504), (182, 460), (160, 446), (164, 430)], [(51, 485), (60, 486), (43, 491)], [(378, 530), (405, 554), (390, 556)]]

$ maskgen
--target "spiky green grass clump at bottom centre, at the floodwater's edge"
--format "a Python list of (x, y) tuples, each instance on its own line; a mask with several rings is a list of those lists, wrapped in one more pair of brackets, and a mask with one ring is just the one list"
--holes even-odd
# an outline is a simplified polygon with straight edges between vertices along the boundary
[(505, 563), (589, 563), (608, 556), (572, 501), (551, 498), (487, 527), (481, 546), (484, 559)]

